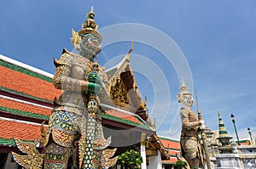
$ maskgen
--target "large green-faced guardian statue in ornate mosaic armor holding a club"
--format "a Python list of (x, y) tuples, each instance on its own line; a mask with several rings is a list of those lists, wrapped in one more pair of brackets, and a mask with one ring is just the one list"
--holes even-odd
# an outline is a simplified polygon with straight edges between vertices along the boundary
[[(54, 99), (47, 132), (44, 132), (44, 125), (41, 127), (40, 144), (45, 147), (45, 155), (37, 153), (35, 156), (38, 152), (36, 146), (29, 144), (32, 150), (25, 151), (28, 155), (14, 154), (21, 166), (39, 168), (43, 157), (45, 169), (66, 169), (71, 164), (75, 168), (107, 169), (117, 161), (117, 157), (110, 159), (116, 149), (106, 149), (111, 138), (105, 139), (102, 130), (98, 95), (107, 76), (104, 69), (93, 61), (101, 51), (102, 42), (94, 16), (91, 9), (82, 30), (78, 33), (72, 30), (71, 40), (79, 54), (64, 49), (61, 58), (54, 60), (53, 84), (63, 93), (59, 99)], [(20, 148), (26, 149), (24, 146)], [(33, 154), (40, 161), (35, 161)]]

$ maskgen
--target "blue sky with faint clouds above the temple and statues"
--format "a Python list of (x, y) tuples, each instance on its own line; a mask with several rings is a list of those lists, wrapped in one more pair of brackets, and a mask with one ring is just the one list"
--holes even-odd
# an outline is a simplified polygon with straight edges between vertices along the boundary
[[(210, 128), (218, 129), (217, 110), (220, 110), (231, 136), (236, 138), (231, 113), (236, 116), (240, 138), (248, 137), (247, 127), (256, 134), (255, 1), (3, 0), (0, 54), (54, 73), (53, 58), (60, 57), (62, 48), (73, 50), (69, 40), (71, 28), (80, 30), (91, 5), (95, 8), (99, 28), (124, 23), (148, 25), (175, 42), (191, 70), (193, 85), (189, 84), (190, 91), (198, 94), (203, 117)], [(103, 39), (119, 36), (111, 34)], [(158, 36), (152, 34), (148, 38), (154, 41)], [(168, 48), (165, 42), (158, 44)], [(102, 48), (99, 62), (105, 65), (113, 58), (121, 58), (129, 48), (130, 42), (108, 45)], [(164, 79), (165, 84), (158, 81), (160, 74), (145, 64), (148, 63), (146, 59), (161, 70), (164, 77), (160, 79)], [(175, 66), (158, 48), (143, 42), (135, 42), (131, 66), (134, 70), (144, 68), (135, 75), (143, 97), (148, 97), (149, 114), (156, 119), (157, 132), (178, 138), (180, 121), (176, 96), (179, 77)]]

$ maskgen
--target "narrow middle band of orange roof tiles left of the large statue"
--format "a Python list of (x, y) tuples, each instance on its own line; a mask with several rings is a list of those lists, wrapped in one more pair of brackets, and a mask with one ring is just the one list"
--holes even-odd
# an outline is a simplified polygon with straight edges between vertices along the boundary
[(0, 106), (7, 107), (9, 109), (27, 111), (27, 112), (32, 112), (32, 113), (41, 114), (41, 115), (51, 114), (50, 109), (38, 107), (32, 104), (20, 103), (15, 100), (9, 100), (9, 99), (3, 99), (3, 98), (0, 98)]

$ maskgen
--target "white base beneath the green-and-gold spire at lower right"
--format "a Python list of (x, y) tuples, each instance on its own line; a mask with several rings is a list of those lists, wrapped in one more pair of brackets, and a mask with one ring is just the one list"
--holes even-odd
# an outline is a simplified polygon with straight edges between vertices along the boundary
[(238, 154), (215, 155), (218, 169), (242, 169)]

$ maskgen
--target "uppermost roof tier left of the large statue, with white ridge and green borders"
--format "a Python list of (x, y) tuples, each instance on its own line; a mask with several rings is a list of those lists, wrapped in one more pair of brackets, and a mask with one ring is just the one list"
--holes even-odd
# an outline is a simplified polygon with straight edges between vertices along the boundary
[[(22, 67), (14, 64), (19, 64), (19, 62), (7, 62), (6, 57), (0, 55), (0, 72), (4, 75), (1, 76), (1, 90), (49, 103), (56, 95), (61, 94), (61, 90), (53, 87), (53, 75), (45, 76), (46, 72), (41, 74), (41, 72), (44, 72), (42, 70), (38, 73), (36, 68), (29, 70), (25, 68), (24, 64), (22, 64)], [(32, 66), (29, 67), (32, 68)]]

